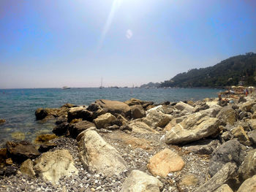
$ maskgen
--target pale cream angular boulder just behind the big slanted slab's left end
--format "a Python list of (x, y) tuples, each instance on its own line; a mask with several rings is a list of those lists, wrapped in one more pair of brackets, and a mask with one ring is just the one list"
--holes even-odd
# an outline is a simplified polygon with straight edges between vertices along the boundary
[(146, 112), (146, 118), (143, 119), (143, 122), (146, 123), (151, 128), (165, 127), (167, 123), (173, 118), (172, 115), (167, 115), (162, 112), (161, 107), (154, 107), (151, 110)]

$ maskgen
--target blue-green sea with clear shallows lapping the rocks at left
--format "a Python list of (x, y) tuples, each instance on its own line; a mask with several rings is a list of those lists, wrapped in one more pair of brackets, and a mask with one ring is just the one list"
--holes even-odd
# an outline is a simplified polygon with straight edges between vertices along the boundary
[(222, 89), (211, 88), (31, 88), (0, 89), (0, 147), (7, 140), (33, 141), (39, 134), (50, 134), (54, 120), (36, 120), (37, 108), (61, 107), (63, 104), (89, 105), (97, 99), (127, 101), (187, 101), (216, 98)]

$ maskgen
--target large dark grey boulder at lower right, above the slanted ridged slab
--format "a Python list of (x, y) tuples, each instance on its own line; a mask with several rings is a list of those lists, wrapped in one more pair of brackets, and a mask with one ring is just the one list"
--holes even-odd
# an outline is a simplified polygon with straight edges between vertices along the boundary
[(209, 174), (214, 176), (228, 162), (236, 163), (239, 166), (241, 164), (240, 153), (241, 145), (237, 140), (230, 140), (220, 145), (211, 155)]

